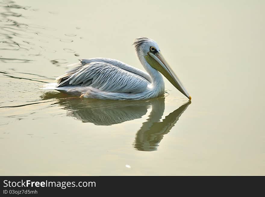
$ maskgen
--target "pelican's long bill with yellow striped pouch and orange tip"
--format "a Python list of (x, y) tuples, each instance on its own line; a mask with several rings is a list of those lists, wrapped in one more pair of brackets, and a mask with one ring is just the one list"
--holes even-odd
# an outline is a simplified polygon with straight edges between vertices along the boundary
[[(156, 62), (150, 61), (148, 56), (152, 57)], [(182, 94), (184, 94), (189, 100), (192, 99), (192, 97), (189, 95), (188, 91), (184, 88), (179, 78), (172, 70), (172, 68), (169, 66), (167, 61), (164, 59), (160, 51), (154, 54), (148, 52), (148, 55), (145, 56), (145, 59), (154, 69), (157, 69), (159, 72), (161, 72), (167, 78), (167, 80), (170, 81), (170, 83), (172, 83), (172, 85), (175, 88), (177, 88)]]

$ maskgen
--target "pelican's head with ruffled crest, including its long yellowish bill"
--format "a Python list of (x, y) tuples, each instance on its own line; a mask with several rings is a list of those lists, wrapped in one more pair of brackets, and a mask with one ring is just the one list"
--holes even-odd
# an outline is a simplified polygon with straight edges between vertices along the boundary
[(175, 88), (191, 100), (191, 96), (188, 91), (184, 88), (175, 72), (164, 59), (157, 43), (154, 40), (139, 37), (135, 39), (133, 45), (135, 46), (136, 52), (139, 56), (145, 57), (145, 60), (152, 68), (161, 72), (161, 74), (164, 75)]

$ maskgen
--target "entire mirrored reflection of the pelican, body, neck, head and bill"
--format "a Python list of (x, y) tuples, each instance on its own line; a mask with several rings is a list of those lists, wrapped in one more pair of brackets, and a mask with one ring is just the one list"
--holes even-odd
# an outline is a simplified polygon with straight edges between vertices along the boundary
[(142, 127), (136, 132), (133, 142), (135, 149), (140, 151), (157, 150), (163, 136), (170, 132), (180, 115), (187, 109), (191, 101), (183, 103), (178, 109), (171, 112), (162, 120), (165, 110), (165, 97), (156, 97), (149, 100), (101, 100), (70, 97), (63, 93), (46, 92), (43, 100), (56, 99), (67, 115), (82, 122), (95, 125), (114, 125), (126, 121), (142, 118), (149, 108), (151, 112)]

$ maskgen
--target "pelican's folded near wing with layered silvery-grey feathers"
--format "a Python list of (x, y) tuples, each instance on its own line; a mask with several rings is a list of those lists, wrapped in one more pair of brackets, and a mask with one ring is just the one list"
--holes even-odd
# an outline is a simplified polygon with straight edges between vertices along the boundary
[[(81, 64), (81, 65), (80, 65)], [(105, 62), (91, 62), (69, 70), (56, 78), (57, 87), (90, 86), (101, 91), (139, 93), (146, 90), (148, 81), (135, 73)]]

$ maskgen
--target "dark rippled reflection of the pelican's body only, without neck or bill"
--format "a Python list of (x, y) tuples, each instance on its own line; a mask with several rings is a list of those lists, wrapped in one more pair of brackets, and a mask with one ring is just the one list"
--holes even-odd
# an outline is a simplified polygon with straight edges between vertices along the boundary
[[(101, 100), (70, 97), (63, 93), (45, 93), (44, 100), (56, 98), (57, 103), (67, 110), (67, 115), (82, 122), (95, 125), (114, 125), (142, 118), (152, 106), (150, 100)], [(155, 99), (157, 100), (157, 99)]]

